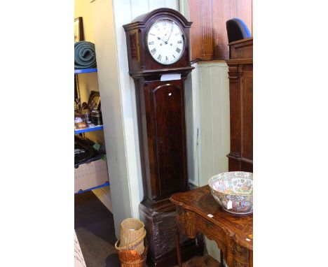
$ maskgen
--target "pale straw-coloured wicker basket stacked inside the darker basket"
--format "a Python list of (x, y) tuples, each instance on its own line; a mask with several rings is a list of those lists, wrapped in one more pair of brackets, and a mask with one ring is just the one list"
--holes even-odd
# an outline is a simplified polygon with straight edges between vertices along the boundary
[[(144, 223), (139, 219), (128, 218), (121, 222), (121, 247), (134, 243), (143, 235)], [(142, 252), (144, 250), (144, 243), (139, 242), (138, 246), (135, 247), (135, 250)]]

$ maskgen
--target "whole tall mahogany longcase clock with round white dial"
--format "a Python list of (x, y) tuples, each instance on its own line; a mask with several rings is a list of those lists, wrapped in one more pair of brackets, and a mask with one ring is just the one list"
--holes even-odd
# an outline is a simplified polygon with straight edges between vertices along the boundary
[[(175, 207), (171, 194), (188, 190), (184, 81), (192, 71), (192, 22), (176, 10), (159, 8), (123, 25), (129, 73), (135, 80), (144, 200), (139, 205), (149, 240), (150, 266), (175, 261)], [(189, 252), (201, 246), (190, 240)]]

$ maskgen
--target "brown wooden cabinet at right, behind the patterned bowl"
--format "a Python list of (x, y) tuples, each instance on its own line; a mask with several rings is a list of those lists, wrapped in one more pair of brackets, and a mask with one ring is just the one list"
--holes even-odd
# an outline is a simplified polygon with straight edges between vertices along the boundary
[(229, 171), (253, 171), (253, 38), (229, 43)]

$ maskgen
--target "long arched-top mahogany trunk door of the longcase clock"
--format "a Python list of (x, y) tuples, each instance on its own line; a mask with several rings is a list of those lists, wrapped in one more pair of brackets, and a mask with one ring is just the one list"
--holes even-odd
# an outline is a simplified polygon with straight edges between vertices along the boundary
[(150, 87), (157, 200), (186, 189), (184, 89), (180, 81), (172, 83), (158, 82)]

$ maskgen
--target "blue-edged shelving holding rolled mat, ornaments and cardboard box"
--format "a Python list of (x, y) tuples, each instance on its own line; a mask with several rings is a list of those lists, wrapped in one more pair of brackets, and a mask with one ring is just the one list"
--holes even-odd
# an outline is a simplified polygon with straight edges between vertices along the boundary
[[(97, 73), (95, 45), (78, 40), (74, 43), (74, 194), (109, 186), (107, 156), (102, 134), (99, 140), (96, 138), (97, 142), (94, 141), (93, 134), (88, 136), (90, 139), (78, 135), (104, 129), (100, 92), (90, 91), (90, 87), (97, 87), (97, 82), (95, 77), (86, 82), (91, 77), (83, 78), (78, 75), (82, 73)], [(80, 89), (83, 90), (82, 99)], [(86, 99), (88, 92), (90, 95)]]

